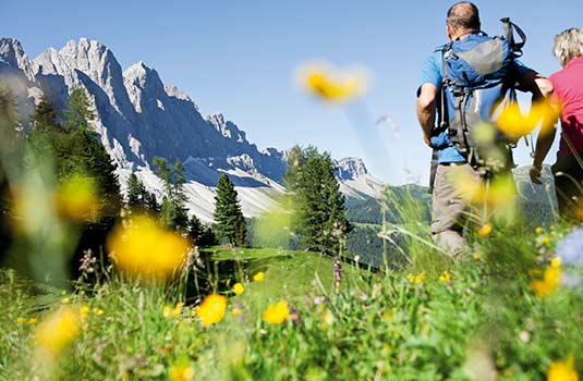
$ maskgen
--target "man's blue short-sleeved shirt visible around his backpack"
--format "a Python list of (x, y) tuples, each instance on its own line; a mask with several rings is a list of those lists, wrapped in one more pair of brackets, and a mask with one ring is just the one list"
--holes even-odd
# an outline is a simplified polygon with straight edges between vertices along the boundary
[[(515, 75), (518, 78), (522, 77), (531, 69), (526, 67), (522, 62), (515, 60)], [(442, 52), (440, 50), (434, 52), (424, 62), (421, 71), (421, 85), (433, 84), (438, 89), (441, 88), (441, 82), (444, 81), (444, 67), (442, 67)], [(420, 88), (421, 88), (420, 85)], [(432, 145), (438, 148), (437, 162), (464, 162), (465, 158), (458, 151), (456, 147), (451, 145), (451, 139), (448, 136), (447, 131), (441, 132), (437, 136), (432, 136)]]

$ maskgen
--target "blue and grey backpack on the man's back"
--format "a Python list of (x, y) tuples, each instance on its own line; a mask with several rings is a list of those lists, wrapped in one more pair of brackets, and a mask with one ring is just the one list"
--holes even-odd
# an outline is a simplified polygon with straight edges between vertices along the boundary
[[(513, 164), (511, 148), (515, 142), (498, 134), (495, 144), (498, 152), (505, 152), (501, 159), (499, 153), (491, 155), (491, 146), (485, 147), (473, 134), (481, 123), (493, 122), (493, 112), (498, 105), (505, 100), (515, 100), (518, 78), (514, 60), (522, 56), (526, 36), (509, 19), (502, 19), (501, 22), (505, 25), (503, 37), (489, 37), (481, 33), (436, 50), (441, 51), (444, 57), (444, 82), (438, 107), (439, 124), (434, 136), (447, 136), (441, 139), (442, 144), (454, 146), (467, 163), (483, 175), (506, 170)], [(514, 30), (521, 42), (514, 41)], [(437, 163), (434, 162), (433, 167), (436, 168)]]

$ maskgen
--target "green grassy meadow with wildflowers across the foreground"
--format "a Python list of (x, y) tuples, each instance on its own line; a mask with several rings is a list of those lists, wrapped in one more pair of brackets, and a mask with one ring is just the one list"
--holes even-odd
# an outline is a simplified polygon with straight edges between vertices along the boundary
[[(412, 258), (433, 258), (377, 273), (343, 266), (340, 292), (333, 292), (331, 259), (278, 249), (209, 249), (217, 262), (236, 259), (223, 290), (224, 319), (203, 328), (195, 306), (165, 317), (182, 292), (123, 280), (114, 273), (73, 294), (39, 287), (13, 272), (0, 272), (0, 374), (33, 379), (35, 327), (62, 306), (87, 305), (83, 330), (58, 359), (57, 380), (167, 380), (177, 366), (191, 367), (196, 380), (545, 380), (552, 361), (574, 355), (583, 365), (583, 292), (559, 288), (548, 298), (533, 294), (529, 271), (538, 250), (552, 250), (563, 233), (535, 234), (495, 230), (474, 242), (479, 258), (440, 259), (430, 248)], [(418, 245), (412, 247), (421, 247)], [(415, 248), (415, 250), (420, 250)], [(448, 270), (451, 281), (439, 275)], [(257, 271), (263, 282), (252, 282)], [(421, 283), (408, 273), (425, 273)], [(264, 309), (287, 300), (293, 321), (269, 324)], [(316, 303), (318, 302), (318, 303)], [(231, 315), (233, 308), (242, 310)], [(478, 367), (478, 364), (482, 367)], [(38, 365), (38, 364), (36, 364)], [(486, 370), (481, 370), (486, 369)]]

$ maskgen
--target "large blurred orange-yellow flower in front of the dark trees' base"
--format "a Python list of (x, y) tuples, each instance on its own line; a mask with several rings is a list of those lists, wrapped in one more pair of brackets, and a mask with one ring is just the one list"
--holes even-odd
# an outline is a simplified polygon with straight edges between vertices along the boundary
[(146, 216), (120, 225), (108, 238), (113, 263), (123, 272), (146, 278), (171, 278), (184, 265), (189, 243), (158, 226)]

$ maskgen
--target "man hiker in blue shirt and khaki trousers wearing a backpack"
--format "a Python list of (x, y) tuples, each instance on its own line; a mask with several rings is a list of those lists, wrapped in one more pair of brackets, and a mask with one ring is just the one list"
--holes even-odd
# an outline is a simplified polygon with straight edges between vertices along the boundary
[[(462, 236), (469, 205), (462, 189), (449, 177), (462, 171), (479, 182), (491, 179), (483, 171), (479, 149), (473, 146), (472, 127), (489, 122), (494, 109), (513, 90), (545, 97), (552, 91), (550, 82), (524, 66), (515, 58), (524, 45), (524, 33), (502, 19), (506, 36), (488, 37), (481, 32), (478, 9), (458, 2), (447, 13), (449, 44), (438, 48), (425, 62), (417, 89), (417, 118), (423, 139), (434, 149), (432, 175), (432, 234), (441, 248), (459, 254), (466, 247)], [(514, 30), (522, 42), (514, 42)], [(514, 95), (515, 96), (515, 95)], [(510, 151), (506, 173), (512, 167)]]

